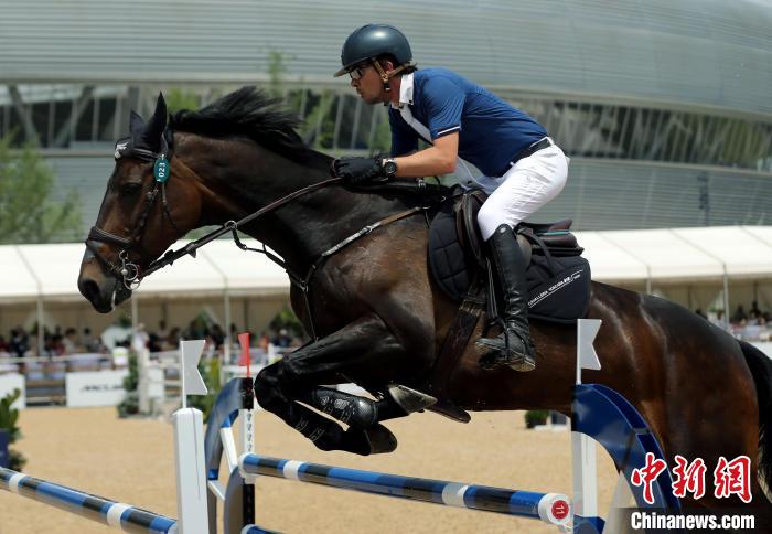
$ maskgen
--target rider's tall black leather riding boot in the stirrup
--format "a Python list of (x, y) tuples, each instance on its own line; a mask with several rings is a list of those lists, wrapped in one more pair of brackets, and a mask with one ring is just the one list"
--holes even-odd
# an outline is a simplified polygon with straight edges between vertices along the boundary
[[(525, 284), (525, 258), (510, 225), (502, 224), (487, 241), (504, 310), (504, 331), (496, 338), (481, 338), (475, 343), (483, 369), (508, 365), (515, 371), (536, 367), (534, 343), (528, 329), (528, 288)], [(491, 296), (492, 298), (492, 296)]]

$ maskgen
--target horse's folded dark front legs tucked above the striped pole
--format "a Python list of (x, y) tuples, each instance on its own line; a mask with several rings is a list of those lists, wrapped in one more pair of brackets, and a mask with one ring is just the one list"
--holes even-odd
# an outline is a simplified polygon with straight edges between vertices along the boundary
[[(392, 385), (384, 398), (372, 400), (319, 384), (350, 382), (346, 376), (362, 375), (365, 371), (367, 376), (375, 376), (374, 382), (387, 384), (394, 361), (404, 353), (379, 317), (364, 316), (264, 369), (255, 378), (255, 396), (264, 408), (320, 449), (360, 455), (389, 452), (396, 448), (396, 438), (378, 421), (422, 409), (431, 403), (430, 397)], [(344, 431), (299, 402), (349, 424), (349, 429)]]

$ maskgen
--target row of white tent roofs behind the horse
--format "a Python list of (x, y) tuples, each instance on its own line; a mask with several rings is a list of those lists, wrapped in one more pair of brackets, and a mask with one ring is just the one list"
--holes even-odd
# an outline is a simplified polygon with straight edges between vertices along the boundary
[[(598, 281), (715, 282), (772, 278), (772, 226), (577, 232)], [(178, 243), (181, 245), (182, 243)], [(0, 302), (77, 300), (82, 244), (0, 246)], [(285, 271), (230, 241), (217, 241), (142, 282), (140, 297), (285, 295)]]

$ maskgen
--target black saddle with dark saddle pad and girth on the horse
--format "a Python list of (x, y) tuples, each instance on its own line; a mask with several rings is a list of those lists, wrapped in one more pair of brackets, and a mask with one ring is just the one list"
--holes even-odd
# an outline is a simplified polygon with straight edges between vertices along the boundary
[[(492, 274), (478, 226), (478, 212), (486, 199), (481, 190), (454, 190), (429, 228), (429, 270), (442, 292), (460, 306), (423, 388), (437, 398), (428, 409), (463, 423), (470, 416), (450, 400), (447, 388), (483, 307), (487, 305), (487, 325), (497, 314), (496, 299), (492, 298), (495, 297)], [(571, 221), (564, 220), (549, 224), (521, 223), (515, 228), (528, 266), (530, 319), (572, 323), (587, 313), (590, 266), (580, 256), (583, 248), (570, 227)]]

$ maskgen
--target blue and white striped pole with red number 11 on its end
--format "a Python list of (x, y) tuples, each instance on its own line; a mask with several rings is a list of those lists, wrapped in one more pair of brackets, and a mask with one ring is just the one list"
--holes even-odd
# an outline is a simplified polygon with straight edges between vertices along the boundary
[(365, 493), (518, 515), (542, 520), (559, 527), (570, 525), (573, 515), (570, 500), (557, 493), (513, 491), (249, 453), (242, 455), (238, 464), (242, 476), (262, 474)]

